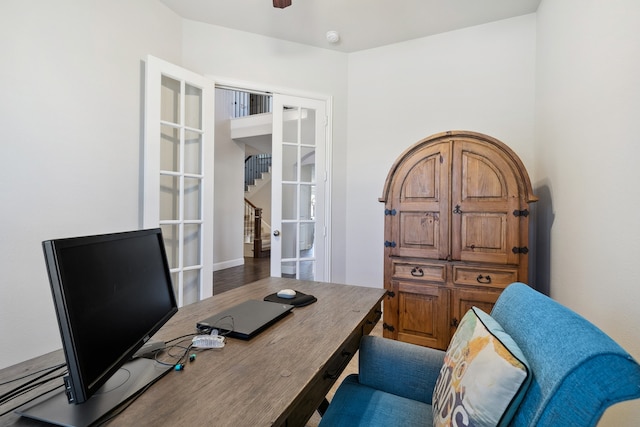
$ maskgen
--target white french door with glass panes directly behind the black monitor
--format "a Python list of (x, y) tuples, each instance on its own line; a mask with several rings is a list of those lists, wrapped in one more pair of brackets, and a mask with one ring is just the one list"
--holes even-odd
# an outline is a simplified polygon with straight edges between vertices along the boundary
[(148, 56), (143, 227), (160, 227), (179, 306), (213, 294), (214, 82)]

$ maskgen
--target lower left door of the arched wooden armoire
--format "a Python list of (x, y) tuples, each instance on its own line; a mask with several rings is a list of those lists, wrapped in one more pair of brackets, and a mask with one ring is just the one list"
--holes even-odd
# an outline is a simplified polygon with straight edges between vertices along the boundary
[(440, 286), (399, 283), (398, 339), (446, 349), (449, 291)]

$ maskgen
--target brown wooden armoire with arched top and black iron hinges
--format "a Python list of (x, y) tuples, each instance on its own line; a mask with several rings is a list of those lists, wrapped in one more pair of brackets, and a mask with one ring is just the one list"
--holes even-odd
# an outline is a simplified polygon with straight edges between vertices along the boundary
[(385, 204), (383, 334), (446, 349), (458, 322), (491, 311), (528, 282), (529, 175), (504, 143), (449, 131), (409, 147), (391, 167)]

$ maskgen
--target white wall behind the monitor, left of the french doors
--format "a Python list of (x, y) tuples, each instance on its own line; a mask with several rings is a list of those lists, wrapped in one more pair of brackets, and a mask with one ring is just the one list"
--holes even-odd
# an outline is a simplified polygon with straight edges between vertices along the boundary
[(138, 228), (141, 59), (180, 31), (155, 0), (2, 1), (0, 367), (61, 346), (41, 242)]

